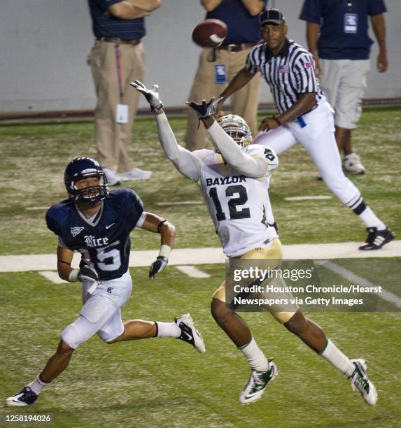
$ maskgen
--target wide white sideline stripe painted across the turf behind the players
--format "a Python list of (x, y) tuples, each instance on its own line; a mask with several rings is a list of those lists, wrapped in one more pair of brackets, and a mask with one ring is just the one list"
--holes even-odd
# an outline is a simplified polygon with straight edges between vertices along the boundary
[[(401, 240), (392, 241), (376, 251), (358, 250), (358, 242), (283, 245), (285, 259), (341, 259), (365, 257), (401, 257)], [(157, 250), (132, 251), (130, 267), (150, 266), (159, 253)], [(80, 255), (76, 253), (73, 266), (78, 267)], [(171, 252), (169, 266), (223, 264), (221, 248), (178, 248)], [(55, 254), (0, 256), (0, 272), (54, 271)]]

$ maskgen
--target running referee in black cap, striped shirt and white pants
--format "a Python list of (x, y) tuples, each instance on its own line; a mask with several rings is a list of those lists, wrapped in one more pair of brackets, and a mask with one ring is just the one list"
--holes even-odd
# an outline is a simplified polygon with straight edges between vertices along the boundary
[(280, 114), (262, 120), (261, 132), (253, 142), (267, 145), (280, 154), (299, 141), (330, 190), (365, 223), (368, 235), (359, 249), (378, 250), (395, 235), (344, 176), (335, 141), (334, 111), (319, 89), (311, 53), (286, 38), (288, 27), (280, 10), (265, 10), (260, 14), (259, 24), (265, 43), (249, 52), (246, 66), (220, 94), (216, 115), (220, 114), (225, 99), (258, 72), (262, 73)]

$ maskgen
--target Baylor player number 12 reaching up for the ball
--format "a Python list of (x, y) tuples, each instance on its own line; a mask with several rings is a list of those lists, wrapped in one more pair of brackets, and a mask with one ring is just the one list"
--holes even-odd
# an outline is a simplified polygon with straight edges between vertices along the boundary
[[(157, 133), (167, 157), (184, 176), (199, 182), (225, 254), (230, 259), (262, 260), (265, 268), (279, 267), (283, 254), (268, 194), (269, 176), (278, 165), (274, 151), (260, 145), (244, 148), (252, 138), (248, 125), (236, 115), (227, 115), (216, 122), (213, 113), (218, 100), (213, 98), (209, 103), (189, 105), (206, 127), (215, 151), (190, 152), (176, 141), (162, 109), (157, 85), (153, 90), (146, 89), (138, 80), (131, 85), (146, 97), (155, 113)], [(299, 308), (270, 312), (309, 348), (342, 371), (367, 404), (376, 404), (376, 388), (367, 378), (363, 359), (346, 357)], [(251, 403), (262, 396), (276, 376), (276, 364), (265, 357), (246, 322), (225, 303), (224, 282), (213, 294), (211, 313), (251, 366), (251, 376), (239, 397), (241, 403)]]

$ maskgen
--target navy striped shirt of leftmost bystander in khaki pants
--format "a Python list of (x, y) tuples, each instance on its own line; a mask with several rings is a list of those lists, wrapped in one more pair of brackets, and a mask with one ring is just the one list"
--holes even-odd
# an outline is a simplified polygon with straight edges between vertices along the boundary
[(113, 15), (105, 15), (108, 7), (121, 0), (89, 0), (92, 29), (96, 38), (117, 37), (122, 40), (142, 38), (146, 34), (145, 19), (119, 20)]

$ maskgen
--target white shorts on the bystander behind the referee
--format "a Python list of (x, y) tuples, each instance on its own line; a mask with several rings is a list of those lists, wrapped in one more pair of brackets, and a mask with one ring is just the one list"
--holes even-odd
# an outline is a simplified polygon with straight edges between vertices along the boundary
[(321, 59), (319, 83), (335, 109), (335, 125), (356, 128), (362, 113), (361, 98), (366, 89), (369, 59)]

